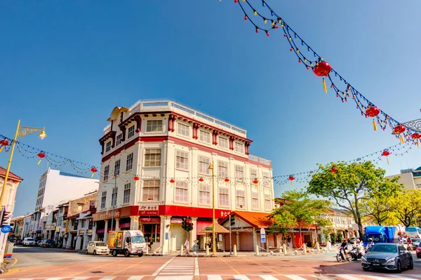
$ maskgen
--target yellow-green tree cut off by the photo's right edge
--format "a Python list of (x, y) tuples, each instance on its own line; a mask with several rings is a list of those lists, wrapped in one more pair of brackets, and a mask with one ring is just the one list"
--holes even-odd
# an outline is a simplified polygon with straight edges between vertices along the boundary
[(417, 218), (421, 215), (421, 190), (420, 189), (403, 189), (399, 193), (397, 203), (399, 206), (395, 209), (395, 217), (405, 225), (416, 224)]

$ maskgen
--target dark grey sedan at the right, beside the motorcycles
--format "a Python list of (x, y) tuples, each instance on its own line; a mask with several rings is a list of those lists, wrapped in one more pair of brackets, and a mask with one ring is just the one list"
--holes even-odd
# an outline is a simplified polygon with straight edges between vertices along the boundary
[(379, 243), (361, 258), (364, 271), (369, 269), (387, 269), (402, 272), (403, 267), (414, 268), (413, 258), (406, 248), (399, 244)]

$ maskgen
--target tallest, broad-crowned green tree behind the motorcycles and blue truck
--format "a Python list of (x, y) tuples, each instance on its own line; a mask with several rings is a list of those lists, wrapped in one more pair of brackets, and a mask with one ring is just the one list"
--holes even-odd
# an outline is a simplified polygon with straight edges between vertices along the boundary
[[(333, 168), (338, 171), (332, 172)], [(312, 176), (307, 192), (333, 199), (338, 206), (352, 213), (359, 227), (359, 237), (363, 238), (361, 202), (383, 192), (396, 192), (401, 185), (386, 182), (385, 171), (375, 168), (371, 161), (347, 164), (343, 161), (319, 164), (318, 171)]]

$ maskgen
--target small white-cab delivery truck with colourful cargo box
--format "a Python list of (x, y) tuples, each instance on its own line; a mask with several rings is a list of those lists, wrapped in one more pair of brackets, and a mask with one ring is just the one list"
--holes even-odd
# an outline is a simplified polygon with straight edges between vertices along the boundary
[(109, 232), (108, 248), (113, 257), (117, 255), (142, 257), (143, 253), (146, 253), (146, 241), (140, 230)]

